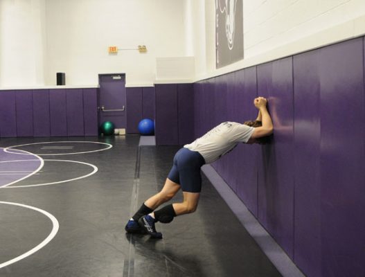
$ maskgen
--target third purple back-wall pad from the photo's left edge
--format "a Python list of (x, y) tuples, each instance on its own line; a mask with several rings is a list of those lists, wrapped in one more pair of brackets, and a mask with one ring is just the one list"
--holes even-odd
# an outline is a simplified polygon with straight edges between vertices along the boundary
[(48, 89), (33, 90), (34, 136), (51, 136)]

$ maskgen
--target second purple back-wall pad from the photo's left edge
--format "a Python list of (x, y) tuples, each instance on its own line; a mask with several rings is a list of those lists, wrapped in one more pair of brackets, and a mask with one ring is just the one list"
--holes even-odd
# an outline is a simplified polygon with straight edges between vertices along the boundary
[(33, 93), (31, 90), (17, 91), (17, 136), (33, 136)]

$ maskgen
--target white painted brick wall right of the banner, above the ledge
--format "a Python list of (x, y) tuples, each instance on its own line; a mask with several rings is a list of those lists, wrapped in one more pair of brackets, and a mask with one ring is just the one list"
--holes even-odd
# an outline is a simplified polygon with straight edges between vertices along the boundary
[(247, 0), (244, 4), (247, 57), (365, 15), (364, 0)]

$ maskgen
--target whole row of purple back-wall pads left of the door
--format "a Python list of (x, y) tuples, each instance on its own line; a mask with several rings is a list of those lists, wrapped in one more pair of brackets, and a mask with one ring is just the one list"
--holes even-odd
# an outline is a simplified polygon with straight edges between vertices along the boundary
[(97, 89), (1, 91), (0, 136), (97, 136), (97, 105)]

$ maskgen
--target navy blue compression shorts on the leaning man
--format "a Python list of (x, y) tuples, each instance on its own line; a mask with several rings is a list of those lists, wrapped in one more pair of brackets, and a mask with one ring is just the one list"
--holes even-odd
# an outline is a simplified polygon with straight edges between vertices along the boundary
[(182, 191), (200, 193), (202, 190), (200, 168), (204, 163), (204, 158), (199, 152), (181, 148), (175, 154), (168, 179), (179, 184)]

